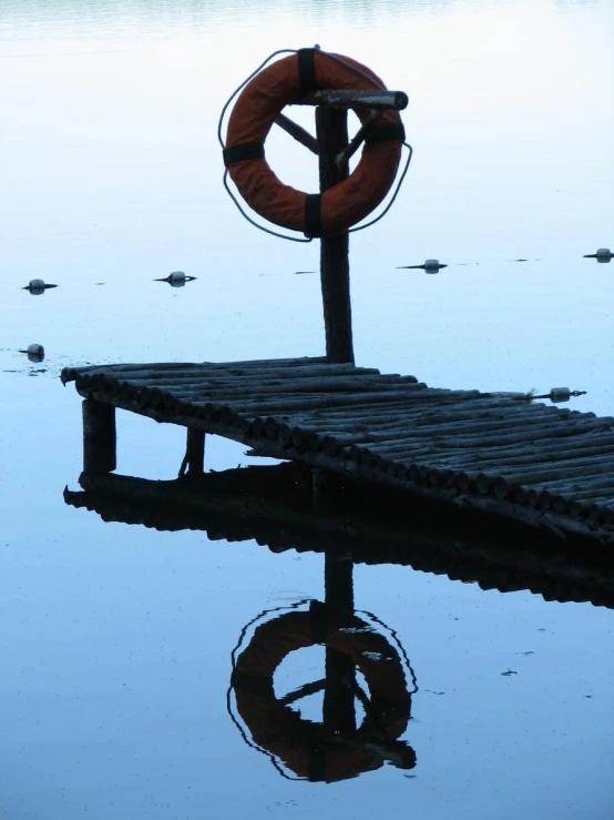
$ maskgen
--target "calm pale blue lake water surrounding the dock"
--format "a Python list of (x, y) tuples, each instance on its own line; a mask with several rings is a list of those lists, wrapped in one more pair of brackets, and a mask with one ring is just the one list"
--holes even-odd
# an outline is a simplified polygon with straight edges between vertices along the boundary
[[(233, 650), (265, 610), (323, 599), (323, 556), (66, 506), (81, 402), (58, 376), (323, 353), (318, 276), (295, 275), (317, 271), (317, 243), (241, 217), (216, 139), (269, 52), (318, 42), (410, 100), (406, 184), (351, 240), (357, 363), (569, 386), (587, 391), (574, 408), (613, 414), (614, 263), (583, 259), (614, 245), (613, 36), (605, 0), (1, 0), (1, 818), (612, 817), (612, 613), (409, 568), (357, 566), (354, 584), (416, 676), (400, 737), (416, 765), (371, 749), (372, 770), (327, 784), (246, 745)], [(315, 189), (286, 134), (267, 155)], [(449, 266), (398, 270), (427, 257)], [(174, 270), (196, 280), (152, 281)], [(34, 277), (59, 287), (20, 290)], [(19, 352), (31, 343), (44, 362)], [(120, 473), (176, 475), (181, 429), (117, 421)], [(207, 442), (209, 468), (247, 463)], [(276, 692), (323, 664), (321, 647), (294, 652)], [(295, 708), (318, 720), (321, 694)]]

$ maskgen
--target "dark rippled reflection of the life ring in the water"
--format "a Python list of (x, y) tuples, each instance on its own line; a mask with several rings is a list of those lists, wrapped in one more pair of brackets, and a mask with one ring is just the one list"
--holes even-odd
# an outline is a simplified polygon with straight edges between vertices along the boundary
[[(411, 697), (397, 650), (356, 615), (326, 624), (324, 605), (262, 624), (236, 659), (232, 687), (237, 710), (262, 749), (311, 781), (331, 782), (379, 769), (385, 760), (412, 768), (416, 755), (398, 740), (407, 728)], [(318, 632), (320, 632), (318, 635)], [(365, 676), (369, 712), (352, 732), (330, 732), (300, 717), (274, 690), (273, 676), (295, 649), (325, 644), (351, 657)]]

